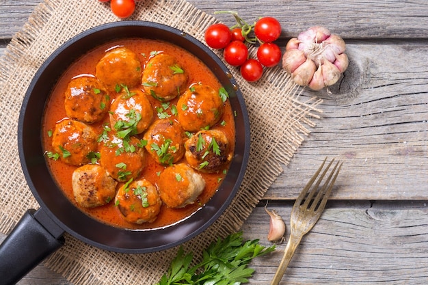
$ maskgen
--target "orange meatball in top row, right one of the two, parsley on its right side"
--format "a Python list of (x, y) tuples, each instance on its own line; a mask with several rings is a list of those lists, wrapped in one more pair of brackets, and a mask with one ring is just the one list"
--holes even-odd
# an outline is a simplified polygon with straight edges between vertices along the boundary
[(171, 55), (159, 53), (150, 58), (143, 70), (144, 90), (161, 101), (176, 98), (187, 87), (187, 73)]

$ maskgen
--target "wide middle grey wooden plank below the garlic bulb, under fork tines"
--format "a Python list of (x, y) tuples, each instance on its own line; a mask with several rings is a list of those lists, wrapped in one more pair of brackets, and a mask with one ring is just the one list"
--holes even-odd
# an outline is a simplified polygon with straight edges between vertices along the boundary
[[(427, 200), (427, 44), (348, 44), (343, 81), (265, 195), (294, 199), (326, 157), (345, 161), (333, 199)], [(306, 92), (308, 96), (315, 92)]]

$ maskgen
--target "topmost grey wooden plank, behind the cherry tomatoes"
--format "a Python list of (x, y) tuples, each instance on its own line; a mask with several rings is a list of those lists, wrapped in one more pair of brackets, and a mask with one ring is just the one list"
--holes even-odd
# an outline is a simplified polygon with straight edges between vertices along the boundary
[[(0, 2), (0, 39), (11, 38), (27, 21), (41, 0)], [(283, 26), (284, 38), (297, 35), (313, 25), (323, 25), (344, 38), (425, 38), (428, 33), (428, 5), (425, 0), (189, 0), (200, 10), (236, 10), (248, 23), (258, 16), (275, 16)], [(259, 9), (263, 5), (263, 9)], [(229, 15), (219, 20), (234, 24)]]

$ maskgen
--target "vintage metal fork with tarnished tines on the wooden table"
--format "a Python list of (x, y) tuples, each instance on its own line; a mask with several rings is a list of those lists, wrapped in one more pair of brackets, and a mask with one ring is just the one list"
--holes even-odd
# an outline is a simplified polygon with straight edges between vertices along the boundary
[[(318, 178), (315, 185), (311, 188), (312, 184), (315, 182), (317, 176), (321, 172), (321, 169), (323, 169), (325, 161), (327, 161), (327, 158), (324, 159), (317, 172), (315, 172), (312, 178), (310, 178), (308, 184), (304, 187), (302, 193), (300, 193), (299, 197), (297, 197), (297, 200), (293, 205), (290, 220), (290, 239), (284, 249), (284, 256), (282, 256), (280, 266), (273, 276), (271, 285), (278, 285), (280, 283), (282, 275), (284, 275), (286, 268), (289, 266), (290, 260), (293, 257), (297, 245), (299, 245), (300, 241), (302, 241), (302, 237), (308, 233), (313, 226), (315, 226), (315, 223), (317, 223), (319, 217), (321, 217), (321, 213), (324, 210), (328, 197), (332, 192), (334, 182), (336, 182), (336, 178), (343, 164), (340, 163), (340, 161), (336, 163), (334, 169), (332, 172), (330, 172), (330, 175), (327, 177), (327, 180), (325, 180), (323, 186), (320, 189), (319, 185), (327, 173), (327, 170), (332, 165), (334, 159), (330, 161), (321, 176)], [(334, 174), (335, 172), (336, 174)]]

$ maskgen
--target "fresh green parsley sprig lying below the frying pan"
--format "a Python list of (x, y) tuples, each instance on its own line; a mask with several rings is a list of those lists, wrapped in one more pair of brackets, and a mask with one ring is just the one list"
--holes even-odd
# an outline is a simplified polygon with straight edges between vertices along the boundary
[(230, 234), (226, 239), (217, 239), (202, 253), (202, 262), (190, 267), (193, 254), (178, 249), (168, 273), (155, 285), (238, 285), (247, 283), (254, 269), (248, 263), (257, 256), (275, 250), (275, 245), (263, 247), (258, 239), (243, 241), (242, 232)]

